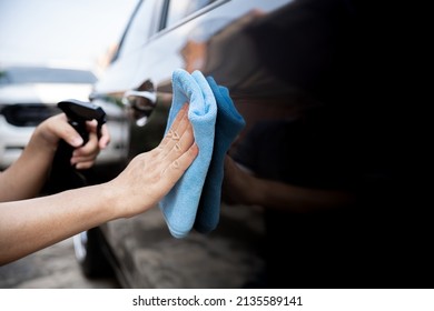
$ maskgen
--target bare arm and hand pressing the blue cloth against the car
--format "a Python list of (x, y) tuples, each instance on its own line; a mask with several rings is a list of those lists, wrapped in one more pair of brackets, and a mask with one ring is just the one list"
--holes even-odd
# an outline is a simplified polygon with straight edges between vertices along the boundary
[(0, 264), (109, 220), (152, 208), (198, 153), (186, 109), (178, 113), (171, 129), (159, 147), (137, 156), (107, 183), (0, 203)]

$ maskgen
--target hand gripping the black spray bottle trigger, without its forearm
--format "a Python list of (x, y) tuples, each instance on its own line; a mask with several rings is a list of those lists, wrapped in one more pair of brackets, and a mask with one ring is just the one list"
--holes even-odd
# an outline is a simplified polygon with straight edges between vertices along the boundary
[(68, 123), (65, 113), (48, 118), (34, 130), (33, 137), (39, 139), (39, 146), (56, 152), (60, 140), (65, 140), (75, 148), (71, 164), (77, 169), (88, 169), (93, 165), (100, 150), (110, 142), (110, 134), (106, 124), (101, 128), (101, 137), (98, 140), (97, 121), (87, 121), (89, 141), (82, 146), (83, 140), (80, 134)]

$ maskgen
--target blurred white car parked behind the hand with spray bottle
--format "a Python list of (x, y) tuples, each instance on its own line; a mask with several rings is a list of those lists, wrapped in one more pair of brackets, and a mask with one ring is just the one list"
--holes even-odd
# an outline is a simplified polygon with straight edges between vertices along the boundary
[[(0, 67), (0, 170), (9, 167), (22, 152), (34, 128), (61, 112), (59, 101), (89, 101), (97, 77), (88, 69), (9, 66)], [(116, 164), (126, 157), (128, 131), (116, 103), (100, 102), (107, 113), (111, 142), (102, 150), (97, 164)]]

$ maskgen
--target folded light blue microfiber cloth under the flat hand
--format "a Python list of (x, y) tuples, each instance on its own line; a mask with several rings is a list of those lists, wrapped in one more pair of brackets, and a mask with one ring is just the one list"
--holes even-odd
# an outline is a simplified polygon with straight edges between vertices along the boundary
[(171, 235), (184, 238), (193, 229), (200, 193), (213, 157), (217, 104), (209, 84), (200, 71), (189, 74), (184, 69), (172, 73), (174, 97), (166, 132), (169, 130), (180, 108), (188, 102), (188, 119), (193, 126), (199, 154), (162, 198), (162, 211)]

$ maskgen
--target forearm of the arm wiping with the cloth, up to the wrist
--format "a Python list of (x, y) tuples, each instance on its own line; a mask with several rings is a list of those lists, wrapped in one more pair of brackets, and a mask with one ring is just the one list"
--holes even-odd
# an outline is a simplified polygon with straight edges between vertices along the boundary
[(107, 189), (100, 184), (0, 203), (0, 264), (117, 218)]

